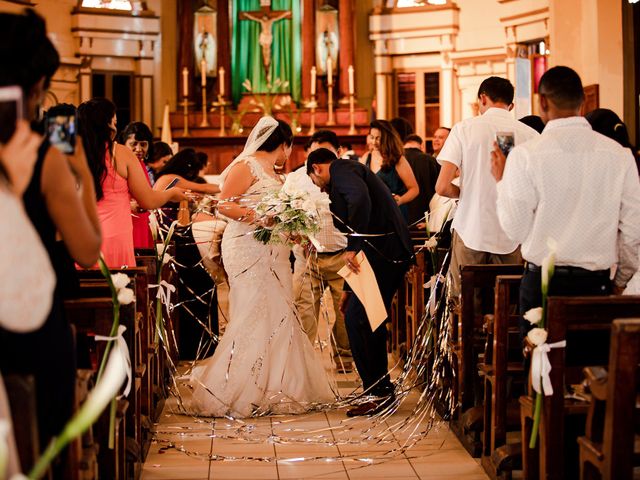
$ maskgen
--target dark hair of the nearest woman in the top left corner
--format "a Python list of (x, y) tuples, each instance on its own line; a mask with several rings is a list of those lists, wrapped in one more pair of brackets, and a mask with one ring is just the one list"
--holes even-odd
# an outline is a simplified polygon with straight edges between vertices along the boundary
[(44, 19), (31, 9), (0, 13), (0, 87), (19, 85), (24, 98), (44, 77), (48, 88), (60, 55), (47, 37)]

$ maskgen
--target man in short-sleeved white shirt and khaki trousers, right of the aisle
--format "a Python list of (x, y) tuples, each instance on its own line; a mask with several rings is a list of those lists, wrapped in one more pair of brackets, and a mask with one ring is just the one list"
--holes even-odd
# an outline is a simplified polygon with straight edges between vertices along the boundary
[[(496, 182), (491, 176), (491, 149), (498, 132), (513, 134), (515, 144), (536, 137), (532, 128), (511, 115), (513, 85), (499, 77), (480, 84), (481, 115), (457, 123), (438, 155), (442, 166), (436, 192), (460, 198), (453, 220), (450, 273), (453, 294), (460, 293), (460, 267), (480, 263), (520, 263), (519, 242), (502, 230), (496, 212)], [(460, 169), (460, 186), (453, 182)]]

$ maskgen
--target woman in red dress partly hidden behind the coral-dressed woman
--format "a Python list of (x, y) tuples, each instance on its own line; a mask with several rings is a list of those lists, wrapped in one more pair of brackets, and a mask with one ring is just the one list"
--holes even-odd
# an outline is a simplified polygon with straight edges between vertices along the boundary
[[(149, 186), (153, 182), (147, 170), (147, 162), (153, 158), (153, 135), (146, 124), (131, 122), (120, 135), (120, 141), (133, 152), (149, 180)], [(134, 248), (155, 248), (153, 236), (149, 227), (149, 211), (143, 210), (138, 202), (131, 200), (131, 221), (133, 222), (133, 246)]]

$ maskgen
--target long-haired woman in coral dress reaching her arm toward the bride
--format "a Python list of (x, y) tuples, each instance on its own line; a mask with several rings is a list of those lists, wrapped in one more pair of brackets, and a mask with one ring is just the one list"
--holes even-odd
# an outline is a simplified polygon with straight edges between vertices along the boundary
[(184, 200), (184, 193), (178, 188), (153, 190), (133, 152), (113, 141), (116, 106), (110, 100), (94, 98), (82, 103), (78, 124), (96, 189), (105, 261), (111, 268), (135, 266), (130, 198), (152, 210)]

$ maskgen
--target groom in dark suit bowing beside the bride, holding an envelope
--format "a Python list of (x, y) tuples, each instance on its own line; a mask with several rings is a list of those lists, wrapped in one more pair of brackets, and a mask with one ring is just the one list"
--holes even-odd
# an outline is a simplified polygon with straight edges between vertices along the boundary
[[(341, 231), (372, 235), (350, 235), (343, 259), (357, 273), (356, 254), (360, 250), (365, 253), (389, 312), (413, 254), (409, 230), (391, 192), (369, 168), (359, 162), (338, 159), (326, 148), (309, 154), (307, 174), (329, 193), (334, 223)], [(374, 397), (352, 408), (347, 415), (373, 414), (394, 399), (387, 373), (387, 329), (381, 325), (371, 331), (364, 306), (348, 291), (346, 283), (342, 308), (356, 368), (365, 391)]]

